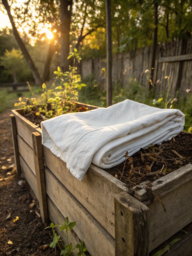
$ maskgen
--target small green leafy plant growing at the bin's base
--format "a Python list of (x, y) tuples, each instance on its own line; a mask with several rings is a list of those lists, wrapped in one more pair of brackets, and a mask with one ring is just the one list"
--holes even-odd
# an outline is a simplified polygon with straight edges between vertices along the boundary
[(67, 244), (64, 244), (63, 241), (61, 240), (61, 237), (57, 235), (57, 233), (55, 232), (55, 227), (59, 225), (54, 225), (51, 222), (50, 226), (45, 228), (45, 229), (51, 228), (53, 232), (53, 241), (50, 243), (49, 246), (51, 248), (55, 248), (57, 245), (61, 251), (60, 255), (63, 255), (63, 256), (71, 256), (72, 255), (71, 253), (74, 252), (75, 250), (78, 250), (77, 256), (84, 256), (85, 255), (84, 252), (86, 252), (86, 248), (84, 246), (83, 241), (81, 241), (80, 244), (77, 244), (75, 247), (73, 247), (71, 243), (69, 244), (69, 240), (68, 240), (68, 231), (73, 229), (73, 227), (76, 225), (76, 222), (69, 222), (68, 217), (66, 217), (65, 219), (66, 219), (65, 223), (62, 226), (60, 226), (60, 231), (65, 231)]

